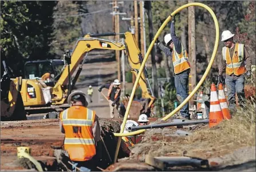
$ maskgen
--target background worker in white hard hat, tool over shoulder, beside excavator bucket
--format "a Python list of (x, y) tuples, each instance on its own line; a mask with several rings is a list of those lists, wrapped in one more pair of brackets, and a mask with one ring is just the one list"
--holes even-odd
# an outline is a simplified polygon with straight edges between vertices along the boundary
[(115, 79), (115, 81), (111, 84), (107, 83), (105, 85), (101, 85), (99, 91), (101, 92), (101, 89), (106, 88), (108, 89), (108, 100), (109, 100), (109, 108), (110, 108), (110, 117), (115, 117), (115, 108), (117, 109), (119, 117), (121, 117), (120, 114), (120, 82), (118, 79)]

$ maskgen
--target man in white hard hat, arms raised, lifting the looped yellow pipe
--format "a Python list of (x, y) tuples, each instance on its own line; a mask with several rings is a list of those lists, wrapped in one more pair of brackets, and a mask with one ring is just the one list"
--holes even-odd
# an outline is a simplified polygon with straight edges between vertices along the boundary
[[(175, 34), (175, 17), (171, 21), (171, 34), (164, 36), (166, 46), (156, 40), (156, 45), (172, 57), (174, 65), (174, 81), (176, 87), (176, 97), (180, 103), (188, 97), (188, 75), (190, 74), (190, 62), (188, 62), (188, 55), (183, 43)], [(186, 103), (179, 112), (180, 118), (190, 119), (188, 103)]]

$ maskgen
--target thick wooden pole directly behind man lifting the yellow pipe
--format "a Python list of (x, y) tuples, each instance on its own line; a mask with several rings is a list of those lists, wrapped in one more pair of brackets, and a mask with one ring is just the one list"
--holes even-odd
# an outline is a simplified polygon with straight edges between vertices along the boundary
[[(188, 3), (192, 3), (194, 1), (189, 0)], [(195, 89), (196, 86), (196, 45), (195, 45), (195, 7), (188, 7), (188, 53), (189, 53), (189, 61), (190, 61), (190, 76), (188, 79), (189, 83), (189, 94), (192, 90)], [(190, 99), (190, 106), (194, 105), (192, 97)]]

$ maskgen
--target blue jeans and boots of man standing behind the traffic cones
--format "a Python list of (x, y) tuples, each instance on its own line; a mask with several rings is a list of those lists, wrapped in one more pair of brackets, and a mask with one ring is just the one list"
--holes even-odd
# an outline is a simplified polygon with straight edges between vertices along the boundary
[(235, 93), (237, 93), (238, 103), (242, 107), (242, 104), (245, 101), (245, 75), (226, 75), (225, 83), (227, 87), (229, 109), (236, 110)]

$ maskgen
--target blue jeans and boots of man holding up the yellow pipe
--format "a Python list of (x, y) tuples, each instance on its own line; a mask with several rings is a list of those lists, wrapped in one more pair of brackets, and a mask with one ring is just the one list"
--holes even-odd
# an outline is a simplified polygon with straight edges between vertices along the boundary
[[(174, 75), (174, 83), (176, 87), (176, 97), (180, 103), (184, 101), (188, 97), (188, 75), (190, 74), (190, 70), (184, 71), (180, 74)], [(182, 109), (180, 109), (180, 115), (184, 118), (190, 118), (190, 114), (188, 113), (188, 103), (186, 103)]]

